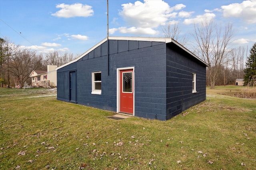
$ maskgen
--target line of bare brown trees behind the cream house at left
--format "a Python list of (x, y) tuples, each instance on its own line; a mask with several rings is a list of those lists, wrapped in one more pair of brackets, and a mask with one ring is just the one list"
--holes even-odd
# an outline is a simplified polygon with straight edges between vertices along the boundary
[(73, 53), (37, 53), (15, 45), (8, 38), (0, 38), (0, 83), (1, 87), (31, 84), (32, 70), (47, 70), (47, 65), (61, 66), (78, 55)]

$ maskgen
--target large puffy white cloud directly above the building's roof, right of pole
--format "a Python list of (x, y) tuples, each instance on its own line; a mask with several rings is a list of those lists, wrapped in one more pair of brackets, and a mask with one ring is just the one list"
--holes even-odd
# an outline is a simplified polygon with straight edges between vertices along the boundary
[[(109, 33), (113, 34), (119, 31), (120, 33), (157, 35), (159, 32), (155, 28), (170, 18), (176, 18), (178, 12), (175, 11), (185, 7), (184, 4), (170, 7), (163, 0), (144, 0), (144, 2), (136, 1), (134, 4), (122, 4), (122, 10), (119, 15), (129, 26), (109, 29)], [(188, 16), (189, 14), (183, 12), (180, 15)]]

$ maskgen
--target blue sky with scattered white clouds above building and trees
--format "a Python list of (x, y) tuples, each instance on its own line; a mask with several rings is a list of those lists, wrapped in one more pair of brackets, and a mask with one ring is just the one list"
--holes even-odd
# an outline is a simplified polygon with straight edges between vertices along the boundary
[(0, 37), (43, 54), (82, 55), (107, 32), (164, 37), (168, 21), (178, 23), (180, 36), (192, 43), (194, 24), (205, 19), (222, 26), (232, 22), (229, 48), (250, 49), (256, 42), (256, 0), (108, 0), (108, 22), (107, 0), (0, 0)]

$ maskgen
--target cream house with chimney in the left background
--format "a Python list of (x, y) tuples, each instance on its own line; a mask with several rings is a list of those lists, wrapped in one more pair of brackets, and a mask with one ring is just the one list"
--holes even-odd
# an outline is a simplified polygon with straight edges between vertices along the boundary
[(33, 70), (30, 74), (31, 86), (49, 87), (57, 86), (57, 68), (56, 65), (47, 65), (46, 70)]

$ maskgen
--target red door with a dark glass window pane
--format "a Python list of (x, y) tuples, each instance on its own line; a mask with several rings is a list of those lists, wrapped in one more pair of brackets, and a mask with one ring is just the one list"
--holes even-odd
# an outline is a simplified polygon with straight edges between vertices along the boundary
[(120, 112), (133, 114), (133, 70), (120, 70)]

